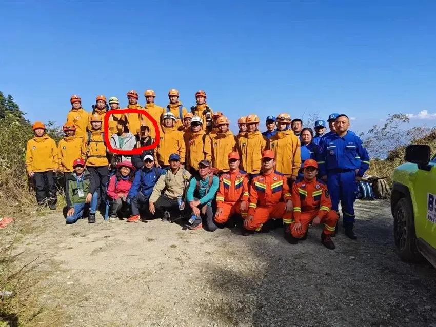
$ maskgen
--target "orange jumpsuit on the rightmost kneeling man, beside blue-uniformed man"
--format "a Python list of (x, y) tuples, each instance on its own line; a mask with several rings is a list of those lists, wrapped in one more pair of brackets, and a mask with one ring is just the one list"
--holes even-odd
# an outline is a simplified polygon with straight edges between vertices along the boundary
[[(307, 232), (309, 223), (315, 217), (321, 219), (324, 234), (334, 233), (338, 214), (334, 210), (330, 210), (330, 194), (324, 182), (316, 178), (309, 182), (304, 178), (300, 182), (293, 183), (292, 203), (294, 206), (294, 219), (291, 221), (290, 226), (287, 227), (287, 232), (290, 231), (293, 237), (303, 237)], [(302, 233), (292, 231), (296, 222), (301, 223)]]

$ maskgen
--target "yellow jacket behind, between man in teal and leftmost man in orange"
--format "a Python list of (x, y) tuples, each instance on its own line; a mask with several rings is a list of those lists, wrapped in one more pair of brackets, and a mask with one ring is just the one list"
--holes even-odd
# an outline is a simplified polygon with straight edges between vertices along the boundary
[(228, 172), (228, 155), (235, 149), (235, 139), (229, 130), (224, 134), (213, 134), (212, 142), (212, 166), (220, 171)]

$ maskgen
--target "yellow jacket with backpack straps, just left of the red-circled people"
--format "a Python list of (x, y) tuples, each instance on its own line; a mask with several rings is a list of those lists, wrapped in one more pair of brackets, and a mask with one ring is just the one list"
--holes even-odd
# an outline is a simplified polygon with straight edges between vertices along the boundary
[(86, 149), (86, 165), (89, 167), (108, 166), (106, 141), (103, 132), (91, 131), (83, 138)]

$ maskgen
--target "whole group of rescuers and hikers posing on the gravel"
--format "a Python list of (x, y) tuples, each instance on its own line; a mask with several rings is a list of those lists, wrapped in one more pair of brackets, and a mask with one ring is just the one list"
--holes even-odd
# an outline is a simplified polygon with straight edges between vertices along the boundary
[(239, 118), (239, 133), (229, 130), (229, 119), (213, 112), (206, 93), (195, 94), (190, 112), (171, 89), (169, 104), (154, 104), (155, 92), (146, 90), (146, 105), (136, 91), (127, 93), (126, 109), (144, 110), (158, 126), (156, 149), (141, 154), (110, 153), (104, 135), (109, 111), (108, 139), (116, 150), (151, 145), (157, 131), (143, 114), (116, 113), (120, 101), (99, 95), (92, 112), (81, 98), (70, 98), (72, 108), (63, 126), (65, 137), (56, 146), (42, 122), (33, 124), (26, 168), (33, 178), (36, 199), (56, 209), (56, 172), (65, 177), (67, 223), (88, 217), (95, 222), (98, 203), (110, 202), (109, 221), (162, 218), (185, 221), (190, 230), (214, 231), (241, 224), (242, 234), (267, 233), (284, 226), (291, 244), (307, 237), (308, 228), (322, 224), (322, 243), (334, 249), (339, 202), (345, 234), (356, 239), (354, 210), (356, 180), (369, 168), (362, 141), (348, 130), (349, 118), (333, 113), (317, 120), (314, 130), (287, 113), (268, 116), (266, 132), (259, 131), (255, 114)]

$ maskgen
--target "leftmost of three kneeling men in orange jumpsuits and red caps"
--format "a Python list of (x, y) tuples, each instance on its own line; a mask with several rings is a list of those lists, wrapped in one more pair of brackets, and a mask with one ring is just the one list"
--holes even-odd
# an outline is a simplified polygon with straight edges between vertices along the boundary
[(248, 211), (248, 175), (239, 169), (239, 154), (235, 151), (228, 155), (229, 172), (220, 177), (220, 188), (216, 193), (215, 222), (226, 223), (229, 228), (235, 226), (234, 215), (247, 217)]

